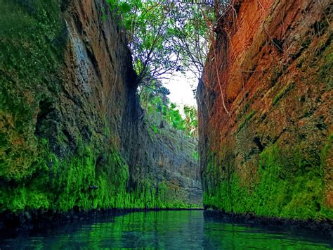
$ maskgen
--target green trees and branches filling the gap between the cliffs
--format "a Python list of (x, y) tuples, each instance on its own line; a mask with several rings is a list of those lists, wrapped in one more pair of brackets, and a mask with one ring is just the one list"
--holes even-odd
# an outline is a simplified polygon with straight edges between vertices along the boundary
[(204, 16), (214, 18), (214, 8), (172, 1), (109, 0), (107, 3), (111, 11), (122, 17), (119, 25), (126, 30), (133, 67), (141, 85), (138, 89), (141, 106), (152, 132), (159, 132), (158, 127), (164, 122), (196, 137), (196, 108), (170, 103), (169, 92), (162, 87), (161, 80), (187, 70), (200, 77), (209, 46)]

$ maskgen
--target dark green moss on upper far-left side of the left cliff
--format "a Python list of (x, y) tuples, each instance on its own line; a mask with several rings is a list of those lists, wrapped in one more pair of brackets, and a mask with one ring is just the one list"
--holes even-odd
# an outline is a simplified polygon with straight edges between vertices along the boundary
[(0, 178), (19, 181), (40, 171), (39, 102), (60, 88), (66, 35), (58, 1), (0, 6)]

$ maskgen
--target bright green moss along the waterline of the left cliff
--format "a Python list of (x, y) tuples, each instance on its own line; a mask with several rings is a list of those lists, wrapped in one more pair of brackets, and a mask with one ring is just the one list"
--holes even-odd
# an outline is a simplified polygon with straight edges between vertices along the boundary
[[(1, 212), (32, 209), (67, 211), (91, 208), (188, 208), (164, 182), (151, 185), (141, 180), (128, 190), (129, 167), (116, 150), (108, 152), (104, 165), (90, 147), (79, 154), (59, 159), (46, 152), (48, 168), (30, 182), (0, 187)], [(98, 189), (90, 189), (91, 186)]]

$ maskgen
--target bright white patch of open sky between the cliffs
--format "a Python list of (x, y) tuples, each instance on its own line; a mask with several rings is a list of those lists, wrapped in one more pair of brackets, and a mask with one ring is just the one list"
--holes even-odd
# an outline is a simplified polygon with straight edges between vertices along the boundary
[(170, 80), (162, 80), (164, 87), (170, 90), (169, 100), (180, 106), (184, 104), (197, 106), (193, 90), (197, 89), (197, 77), (191, 72), (185, 75), (178, 73), (171, 77)]

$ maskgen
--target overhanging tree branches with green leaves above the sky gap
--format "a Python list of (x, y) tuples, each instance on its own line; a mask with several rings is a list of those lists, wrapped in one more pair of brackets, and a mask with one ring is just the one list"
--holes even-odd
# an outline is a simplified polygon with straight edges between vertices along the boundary
[[(209, 39), (202, 8), (173, 1), (112, 0), (121, 15), (141, 84), (150, 85), (175, 71), (192, 70), (200, 77)], [(213, 8), (205, 8), (214, 18)]]

